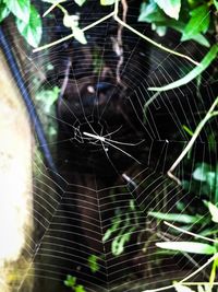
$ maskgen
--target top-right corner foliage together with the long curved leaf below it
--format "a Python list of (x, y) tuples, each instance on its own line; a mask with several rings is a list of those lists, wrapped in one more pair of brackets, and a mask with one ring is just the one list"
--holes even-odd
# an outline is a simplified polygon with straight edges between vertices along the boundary
[(161, 87), (149, 87), (150, 91), (168, 91), (182, 86), (197, 75), (217, 58), (218, 46), (210, 45), (210, 36), (217, 32), (216, 11), (217, 1), (195, 0), (148, 0), (141, 5), (140, 22), (152, 24), (160, 36), (165, 36), (167, 28), (181, 33), (181, 42), (193, 39), (198, 44), (210, 47), (201, 66), (194, 68), (182, 79)]

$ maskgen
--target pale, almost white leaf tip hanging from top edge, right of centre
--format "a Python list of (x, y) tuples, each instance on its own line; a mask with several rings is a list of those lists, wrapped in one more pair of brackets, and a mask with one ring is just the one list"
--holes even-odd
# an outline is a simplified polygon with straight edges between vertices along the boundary
[(155, 0), (165, 13), (171, 19), (179, 20), (181, 0)]

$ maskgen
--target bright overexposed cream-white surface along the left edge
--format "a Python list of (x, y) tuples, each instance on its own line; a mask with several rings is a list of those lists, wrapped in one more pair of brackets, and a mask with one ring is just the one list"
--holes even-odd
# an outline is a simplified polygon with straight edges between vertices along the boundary
[(4, 292), (11, 291), (12, 266), (21, 260), (33, 231), (33, 138), (26, 110), (2, 51), (0, 63), (0, 289)]

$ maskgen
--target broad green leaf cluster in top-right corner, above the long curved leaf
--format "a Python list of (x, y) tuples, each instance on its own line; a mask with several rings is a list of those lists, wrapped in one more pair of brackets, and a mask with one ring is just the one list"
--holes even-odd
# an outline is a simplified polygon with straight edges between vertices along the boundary
[(181, 42), (194, 39), (209, 47), (206, 34), (216, 31), (215, 9), (217, 1), (148, 0), (141, 5), (138, 21), (152, 23), (161, 34), (171, 27), (181, 33)]

